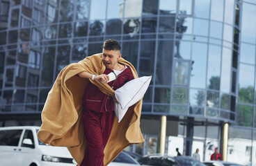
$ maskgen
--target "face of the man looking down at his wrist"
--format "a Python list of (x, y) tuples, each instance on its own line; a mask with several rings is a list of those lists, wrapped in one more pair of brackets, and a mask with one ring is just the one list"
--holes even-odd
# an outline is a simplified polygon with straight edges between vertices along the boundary
[(118, 64), (118, 59), (121, 57), (120, 50), (102, 50), (103, 57), (102, 60), (106, 68), (115, 69)]

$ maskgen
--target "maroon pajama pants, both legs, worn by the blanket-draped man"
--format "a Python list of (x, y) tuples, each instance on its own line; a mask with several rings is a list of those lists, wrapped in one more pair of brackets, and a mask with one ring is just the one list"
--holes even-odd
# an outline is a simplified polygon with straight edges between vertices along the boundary
[(104, 166), (104, 148), (111, 134), (114, 115), (114, 111), (102, 113), (83, 110), (83, 130), (87, 149), (81, 166)]

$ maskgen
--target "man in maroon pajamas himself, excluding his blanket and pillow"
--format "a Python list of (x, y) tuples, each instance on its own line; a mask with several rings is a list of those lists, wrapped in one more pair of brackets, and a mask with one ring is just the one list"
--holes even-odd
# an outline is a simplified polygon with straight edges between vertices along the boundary
[[(118, 63), (121, 57), (121, 46), (114, 39), (107, 39), (102, 50), (102, 61), (106, 70), (102, 75), (92, 75), (86, 71), (79, 77), (107, 83), (115, 91), (126, 82), (134, 79), (129, 66)], [(116, 79), (109, 81), (109, 73), (113, 72)], [(97, 86), (88, 83), (83, 95), (82, 121), (86, 136), (87, 151), (80, 166), (104, 166), (104, 148), (109, 140), (114, 120), (114, 102), (111, 96), (102, 93)]]

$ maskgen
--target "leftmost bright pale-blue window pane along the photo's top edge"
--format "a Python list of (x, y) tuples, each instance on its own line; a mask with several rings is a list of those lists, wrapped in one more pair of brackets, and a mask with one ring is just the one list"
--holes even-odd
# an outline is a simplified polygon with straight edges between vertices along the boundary
[(90, 19), (105, 19), (106, 17), (106, 1), (93, 0), (90, 1)]

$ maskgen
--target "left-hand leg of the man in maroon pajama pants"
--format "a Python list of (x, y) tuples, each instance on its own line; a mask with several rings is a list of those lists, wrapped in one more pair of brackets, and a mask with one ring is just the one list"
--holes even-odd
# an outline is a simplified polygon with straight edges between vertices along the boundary
[(104, 166), (104, 145), (102, 142), (102, 113), (83, 110), (83, 129), (87, 151), (81, 166)]

